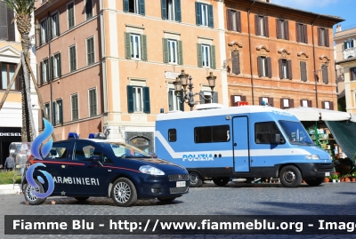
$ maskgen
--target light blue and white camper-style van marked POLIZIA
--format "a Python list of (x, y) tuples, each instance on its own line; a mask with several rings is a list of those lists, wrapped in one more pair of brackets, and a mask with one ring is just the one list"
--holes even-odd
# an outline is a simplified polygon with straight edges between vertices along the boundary
[(184, 166), (190, 187), (200, 187), (206, 178), (224, 186), (231, 177), (279, 178), (285, 187), (304, 179), (319, 186), (334, 171), (328, 152), (283, 109), (218, 104), (197, 109), (159, 114), (155, 131), (156, 154)]

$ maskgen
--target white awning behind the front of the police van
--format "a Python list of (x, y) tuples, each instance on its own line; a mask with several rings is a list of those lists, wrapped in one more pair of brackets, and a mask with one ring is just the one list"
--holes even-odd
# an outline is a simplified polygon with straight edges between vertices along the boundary
[[(352, 115), (350, 113), (336, 110), (304, 107), (286, 108), (286, 110), (295, 115), (300, 121), (352, 121)], [(356, 115), (353, 116), (353, 122), (356, 122)]]

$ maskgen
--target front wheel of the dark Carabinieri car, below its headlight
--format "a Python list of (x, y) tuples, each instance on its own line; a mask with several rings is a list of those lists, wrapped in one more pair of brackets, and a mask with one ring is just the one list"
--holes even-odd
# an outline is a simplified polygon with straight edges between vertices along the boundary
[(137, 192), (130, 179), (120, 178), (114, 182), (111, 198), (117, 206), (129, 207), (137, 202)]

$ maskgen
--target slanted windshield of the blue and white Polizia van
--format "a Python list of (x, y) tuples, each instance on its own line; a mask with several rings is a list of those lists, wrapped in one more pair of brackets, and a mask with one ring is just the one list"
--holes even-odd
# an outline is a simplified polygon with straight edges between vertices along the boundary
[(311, 137), (309, 137), (308, 132), (305, 131), (302, 123), (280, 120), (279, 124), (291, 144), (314, 144)]

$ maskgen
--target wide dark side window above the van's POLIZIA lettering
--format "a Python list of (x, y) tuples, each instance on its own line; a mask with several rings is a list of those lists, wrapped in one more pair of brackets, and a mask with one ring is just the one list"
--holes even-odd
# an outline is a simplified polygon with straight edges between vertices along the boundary
[(230, 126), (204, 126), (194, 128), (194, 141), (196, 143), (214, 143), (230, 141)]

